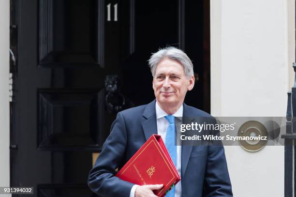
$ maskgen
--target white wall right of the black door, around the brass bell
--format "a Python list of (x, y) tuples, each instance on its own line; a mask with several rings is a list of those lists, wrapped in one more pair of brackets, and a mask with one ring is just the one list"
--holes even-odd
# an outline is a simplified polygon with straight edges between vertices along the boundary
[[(285, 116), (294, 8), (292, 0), (211, 0), (213, 116)], [(284, 196), (283, 146), (225, 154), (235, 197)]]

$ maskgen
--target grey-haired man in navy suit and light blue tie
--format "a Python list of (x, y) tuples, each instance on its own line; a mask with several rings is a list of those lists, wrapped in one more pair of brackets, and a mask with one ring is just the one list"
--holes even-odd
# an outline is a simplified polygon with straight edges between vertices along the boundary
[(211, 117), (183, 103), (194, 86), (191, 60), (183, 51), (167, 47), (152, 54), (149, 66), (156, 99), (118, 113), (89, 173), (89, 188), (103, 197), (156, 197), (153, 190), (163, 184), (139, 186), (115, 174), (152, 134), (158, 134), (181, 177), (167, 197), (232, 197), (223, 146), (175, 146), (174, 128), (168, 126), (182, 117)]

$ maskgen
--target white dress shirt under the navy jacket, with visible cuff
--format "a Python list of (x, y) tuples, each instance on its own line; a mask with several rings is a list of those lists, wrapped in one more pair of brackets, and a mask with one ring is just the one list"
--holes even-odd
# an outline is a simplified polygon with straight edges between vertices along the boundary
[[(165, 111), (163, 111), (163, 109), (158, 105), (157, 102), (155, 105), (155, 109), (156, 109), (157, 134), (161, 135), (163, 138), (163, 141), (165, 142), (168, 121), (164, 117), (167, 116), (168, 114)], [(183, 105), (180, 106), (178, 111), (176, 113), (174, 113), (173, 116), (180, 118), (180, 120), (181, 120), (181, 117), (183, 117)], [(181, 146), (177, 146), (177, 170), (178, 170), (179, 176), (181, 177)], [(181, 197), (181, 194), (182, 194), (181, 185), (182, 185), (181, 181), (179, 181), (175, 185), (175, 197)], [(134, 197), (135, 189), (138, 186), (139, 185), (133, 185), (131, 193), (130, 193), (130, 197)]]

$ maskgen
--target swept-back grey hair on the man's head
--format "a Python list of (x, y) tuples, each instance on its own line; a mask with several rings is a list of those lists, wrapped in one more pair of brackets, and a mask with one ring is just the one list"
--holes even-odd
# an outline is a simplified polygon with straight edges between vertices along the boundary
[(162, 61), (163, 58), (170, 58), (179, 61), (183, 65), (186, 78), (190, 79), (190, 77), (194, 75), (192, 61), (186, 53), (176, 47), (168, 46), (159, 49), (156, 53), (152, 53), (150, 59), (148, 60), (153, 77), (155, 76), (157, 64)]

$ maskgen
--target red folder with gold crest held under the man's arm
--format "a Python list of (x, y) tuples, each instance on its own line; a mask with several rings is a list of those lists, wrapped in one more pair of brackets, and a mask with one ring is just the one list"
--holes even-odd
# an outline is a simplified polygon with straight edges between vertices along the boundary
[(178, 171), (160, 135), (153, 134), (116, 176), (138, 185), (163, 184), (154, 194), (159, 197), (171, 190), (180, 180)]

